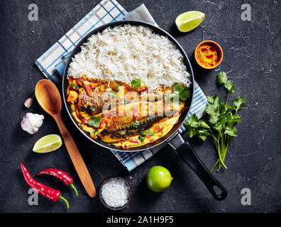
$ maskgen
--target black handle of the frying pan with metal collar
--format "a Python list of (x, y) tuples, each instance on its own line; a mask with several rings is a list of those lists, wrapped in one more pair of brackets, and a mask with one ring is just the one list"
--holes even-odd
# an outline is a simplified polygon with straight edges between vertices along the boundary
[(226, 199), (226, 188), (214, 177), (214, 175), (211, 174), (211, 172), (209, 172), (202, 160), (200, 160), (198, 157), (197, 153), (195, 153), (192, 146), (188, 142), (184, 141), (180, 133), (178, 133), (177, 136), (172, 140), (175, 141), (169, 142), (171, 147), (175, 149), (175, 152), (182, 159), (182, 161), (193, 170), (199, 179), (202, 180), (214, 199)]

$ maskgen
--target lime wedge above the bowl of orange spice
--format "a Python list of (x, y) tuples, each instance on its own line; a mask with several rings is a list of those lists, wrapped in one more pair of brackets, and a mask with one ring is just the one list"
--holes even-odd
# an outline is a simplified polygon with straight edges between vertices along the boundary
[(200, 11), (187, 11), (177, 16), (175, 24), (182, 33), (187, 33), (197, 28), (204, 21), (205, 14)]

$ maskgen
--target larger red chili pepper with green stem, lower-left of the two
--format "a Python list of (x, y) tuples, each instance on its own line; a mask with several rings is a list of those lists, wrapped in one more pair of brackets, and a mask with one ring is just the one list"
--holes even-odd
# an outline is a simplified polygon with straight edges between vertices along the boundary
[(59, 199), (62, 199), (67, 204), (67, 210), (70, 208), (68, 201), (60, 195), (59, 190), (53, 189), (51, 187), (46, 186), (45, 184), (35, 181), (35, 179), (33, 179), (33, 177), (31, 177), (31, 174), (28, 172), (28, 170), (23, 165), (23, 163), (21, 163), (21, 171), (23, 172), (23, 177), (24, 177), (24, 179), (26, 179), (26, 182), (28, 183), (28, 185), (31, 188), (33, 188), (35, 192), (38, 192), (38, 194), (41, 194), (45, 198), (48, 198), (55, 202), (57, 202)]

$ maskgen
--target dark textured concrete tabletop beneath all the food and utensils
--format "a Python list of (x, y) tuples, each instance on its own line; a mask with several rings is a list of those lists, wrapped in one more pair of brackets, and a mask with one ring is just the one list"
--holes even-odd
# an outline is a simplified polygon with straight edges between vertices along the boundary
[[(28, 5), (33, 1), (1, 1), (0, 4), (0, 211), (1, 212), (64, 212), (65, 204), (39, 196), (38, 206), (28, 205), (28, 185), (21, 174), (24, 162), (32, 175), (45, 167), (57, 167), (75, 178), (79, 197), (53, 178), (40, 180), (60, 188), (70, 201), (70, 212), (106, 212), (96, 198), (87, 196), (75, 173), (65, 146), (48, 154), (32, 152), (38, 138), (59, 133), (53, 118), (35, 102), (31, 110), (23, 101), (33, 94), (43, 74), (35, 60), (77, 23), (99, 1), (36, 1), (38, 21), (28, 21)], [(81, 135), (65, 114), (67, 128), (89, 167), (94, 183), (112, 175), (124, 177), (131, 184), (133, 197), (127, 212), (272, 212), (281, 211), (280, 193), (280, 1), (248, 1), (251, 21), (241, 20), (244, 1), (129, 1), (119, 3), (127, 10), (141, 3), (149, 9), (161, 28), (171, 33), (186, 50), (192, 61), (197, 82), (206, 95), (225, 92), (215, 83), (216, 73), (225, 71), (236, 84), (235, 96), (246, 98), (240, 112), (238, 136), (226, 155), (228, 170), (215, 173), (228, 189), (224, 201), (215, 201), (197, 176), (164, 148), (133, 172), (127, 172), (109, 150), (91, 143)], [(206, 19), (196, 30), (180, 33), (175, 28), (178, 14), (199, 10)], [(215, 40), (224, 49), (224, 61), (216, 70), (203, 71), (194, 62), (193, 52), (202, 40)], [(279, 78), (278, 78), (279, 77)], [(21, 130), (21, 118), (28, 111), (44, 114), (43, 126), (35, 135)], [(201, 143), (190, 140), (206, 167), (216, 162), (211, 140)], [(149, 167), (167, 167), (174, 177), (170, 188), (162, 194), (150, 192), (145, 185)], [(241, 189), (251, 192), (251, 205), (241, 204)]]

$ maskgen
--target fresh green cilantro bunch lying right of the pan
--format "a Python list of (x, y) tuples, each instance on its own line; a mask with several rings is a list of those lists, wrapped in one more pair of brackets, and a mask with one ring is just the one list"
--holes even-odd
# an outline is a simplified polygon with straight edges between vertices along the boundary
[[(208, 136), (211, 136), (214, 139), (219, 155), (219, 159), (214, 167), (219, 165), (217, 169), (219, 171), (221, 165), (227, 169), (224, 159), (231, 139), (237, 135), (235, 125), (241, 121), (238, 110), (242, 109), (246, 101), (238, 96), (232, 101), (232, 105), (228, 105), (228, 96), (234, 93), (235, 86), (233, 82), (227, 79), (226, 72), (219, 72), (217, 74), (216, 83), (224, 84), (227, 90), (226, 101), (221, 101), (218, 94), (208, 96), (205, 109), (206, 116), (199, 120), (196, 114), (193, 114), (187, 119), (185, 126), (187, 126), (189, 137), (197, 135), (198, 138), (206, 140)], [(214, 167), (211, 169), (211, 172), (214, 170)]]

